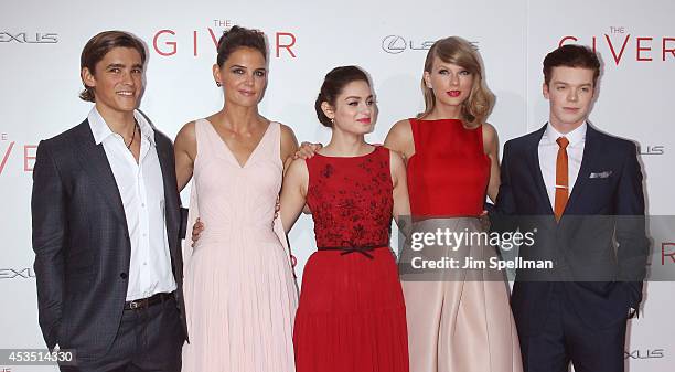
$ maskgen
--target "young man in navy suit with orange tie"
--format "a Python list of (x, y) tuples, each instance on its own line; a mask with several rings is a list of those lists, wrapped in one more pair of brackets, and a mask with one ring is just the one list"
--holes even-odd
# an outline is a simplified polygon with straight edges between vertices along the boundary
[(527, 372), (565, 372), (570, 362), (577, 372), (623, 371), (626, 319), (642, 300), (642, 173), (633, 142), (587, 121), (599, 75), (588, 47), (549, 53), (549, 120), (504, 145), (497, 215), (536, 228), (522, 257), (554, 263), (547, 273), (516, 272), (512, 309)]

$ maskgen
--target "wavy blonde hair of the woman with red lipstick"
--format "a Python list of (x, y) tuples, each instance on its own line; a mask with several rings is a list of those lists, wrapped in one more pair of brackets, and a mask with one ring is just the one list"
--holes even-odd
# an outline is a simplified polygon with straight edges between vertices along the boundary
[[(485, 123), (494, 105), (494, 95), (485, 86), (481, 57), (475, 49), (468, 41), (459, 36), (438, 40), (427, 53), (425, 72), (431, 73), (435, 57), (439, 57), (444, 63), (467, 68), (473, 75), (471, 93), (462, 103), (462, 121), (470, 127), (476, 127)], [(425, 111), (419, 114), (418, 118), (425, 118), (436, 108), (436, 96), (433, 91), (425, 84), (424, 76), (421, 89), (425, 96)]]

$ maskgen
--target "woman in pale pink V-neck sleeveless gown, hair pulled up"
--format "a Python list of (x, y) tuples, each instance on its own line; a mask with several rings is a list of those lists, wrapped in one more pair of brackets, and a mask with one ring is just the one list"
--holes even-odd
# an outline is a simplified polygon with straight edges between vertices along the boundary
[(189, 225), (199, 215), (208, 226), (184, 247), (183, 371), (292, 372), (298, 295), (275, 210), (297, 141), (258, 113), (267, 85), (262, 33), (225, 32), (213, 76), (223, 109), (175, 139), (179, 190), (193, 178)]

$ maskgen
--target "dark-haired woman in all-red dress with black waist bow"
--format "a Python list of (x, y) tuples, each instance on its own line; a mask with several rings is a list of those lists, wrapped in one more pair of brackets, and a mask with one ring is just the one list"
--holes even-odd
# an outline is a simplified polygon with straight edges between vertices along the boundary
[(287, 232), (310, 206), (319, 248), (303, 270), (297, 371), (408, 371), (406, 310), (389, 248), (392, 216), (409, 214), (405, 164), (364, 139), (376, 107), (360, 68), (331, 71), (315, 109), (331, 141), (290, 164), (280, 201)]

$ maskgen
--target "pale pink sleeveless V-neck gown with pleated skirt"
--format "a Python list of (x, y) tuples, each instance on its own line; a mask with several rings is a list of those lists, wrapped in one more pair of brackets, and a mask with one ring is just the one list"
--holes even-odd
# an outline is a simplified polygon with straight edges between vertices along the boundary
[[(297, 286), (275, 216), (280, 125), (270, 123), (244, 167), (207, 120), (195, 123), (190, 202), (205, 230), (185, 244), (186, 372), (292, 372)], [(191, 227), (189, 227), (191, 228)], [(186, 240), (188, 242), (189, 240)]]

